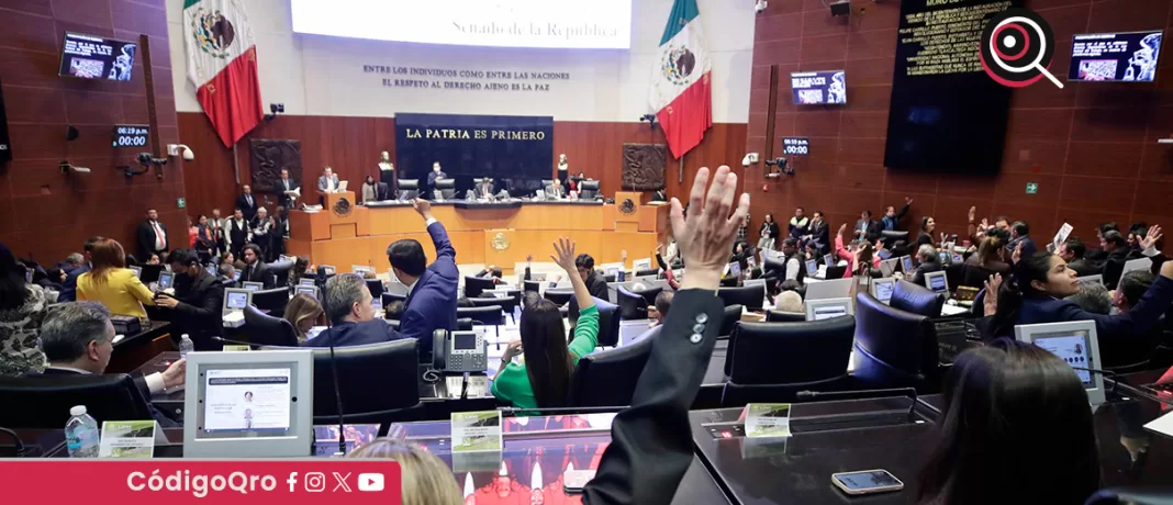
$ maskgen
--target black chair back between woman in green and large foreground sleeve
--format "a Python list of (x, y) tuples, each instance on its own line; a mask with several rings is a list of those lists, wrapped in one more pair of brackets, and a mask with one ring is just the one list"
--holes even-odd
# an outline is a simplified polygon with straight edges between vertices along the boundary
[(570, 378), (570, 407), (626, 407), (636, 391), (639, 375), (652, 354), (656, 337), (616, 349), (589, 354), (578, 360)]

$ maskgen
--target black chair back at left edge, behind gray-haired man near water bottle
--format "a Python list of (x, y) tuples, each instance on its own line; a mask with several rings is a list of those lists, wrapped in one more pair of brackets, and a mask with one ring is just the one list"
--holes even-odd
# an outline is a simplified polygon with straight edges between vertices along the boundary
[(151, 409), (135, 381), (124, 374), (49, 374), (0, 376), (0, 426), (60, 430), (69, 409), (86, 405), (101, 424), (106, 421), (150, 419)]

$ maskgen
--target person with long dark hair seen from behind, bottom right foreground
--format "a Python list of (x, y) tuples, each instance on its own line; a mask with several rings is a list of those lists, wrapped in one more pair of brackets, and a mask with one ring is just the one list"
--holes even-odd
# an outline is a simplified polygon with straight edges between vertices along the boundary
[(1099, 489), (1087, 394), (1053, 354), (1009, 339), (967, 350), (943, 398), (917, 503), (1078, 505)]

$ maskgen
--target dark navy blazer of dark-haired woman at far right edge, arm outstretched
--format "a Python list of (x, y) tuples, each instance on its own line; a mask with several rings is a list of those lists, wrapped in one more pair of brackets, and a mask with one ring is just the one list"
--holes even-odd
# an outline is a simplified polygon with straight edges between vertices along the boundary
[[(1153, 325), (1173, 303), (1173, 279), (1158, 275), (1131, 310), (1119, 315), (1094, 314), (1078, 305), (1052, 296), (1026, 296), (1018, 310), (1018, 325), (1042, 322), (1096, 321), (1096, 332), (1104, 339), (1144, 339)], [(998, 335), (1006, 336), (1006, 335)]]

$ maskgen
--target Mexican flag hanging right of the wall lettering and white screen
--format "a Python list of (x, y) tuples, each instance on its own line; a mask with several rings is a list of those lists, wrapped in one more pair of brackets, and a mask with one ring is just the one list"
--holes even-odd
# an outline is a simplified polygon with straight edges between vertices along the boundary
[(697, 0), (676, 0), (652, 67), (651, 105), (679, 158), (713, 125), (712, 64), (704, 45)]

